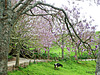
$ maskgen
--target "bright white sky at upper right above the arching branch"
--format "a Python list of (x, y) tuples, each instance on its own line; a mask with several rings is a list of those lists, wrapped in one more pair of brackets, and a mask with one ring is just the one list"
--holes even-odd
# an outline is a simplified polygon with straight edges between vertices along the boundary
[[(56, 7), (61, 7), (62, 5), (68, 6), (68, 0), (46, 0), (47, 3), (54, 4)], [(75, 0), (69, 0), (69, 1), (75, 1)], [(93, 1), (93, 0), (92, 0)], [(100, 5), (94, 4), (94, 2), (90, 2), (85, 0), (85, 2), (82, 1), (75, 1), (75, 3), (79, 3), (79, 6), (81, 6), (83, 9), (81, 12), (87, 17), (91, 16), (95, 21), (92, 23), (92, 25), (97, 25), (96, 31), (100, 31)], [(90, 5), (90, 6), (89, 6)]]

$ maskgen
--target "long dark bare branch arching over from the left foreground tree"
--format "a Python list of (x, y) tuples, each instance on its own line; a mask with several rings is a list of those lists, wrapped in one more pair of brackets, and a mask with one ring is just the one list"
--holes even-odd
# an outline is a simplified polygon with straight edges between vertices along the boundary
[[(80, 43), (82, 42), (82, 43), (83, 43), (83, 46), (84, 46), (85, 48), (90, 49), (90, 50), (92, 50), (92, 52), (93, 52), (93, 49), (91, 48), (90, 44), (88, 44), (86, 41), (84, 42), (84, 41), (78, 36), (78, 34), (76, 33), (76, 31), (75, 31), (73, 25), (70, 23), (69, 18), (68, 18), (68, 16), (67, 16), (66, 12), (65, 12), (63, 9), (57, 8), (57, 7), (54, 7), (53, 5), (45, 4), (45, 3), (42, 3), (42, 2), (40, 2), (40, 1), (38, 1), (38, 2), (36, 2), (34, 5), (31, 5), (28, 9), (24, 10), (24, 11), (22, 12), (22, 14), (26, 14), (26, 12), (30, 11), (30, 9), (36, 7), (37, 5), (48, 6), (48, 7), (51, 7), (51, 8), (53, 8), (53, 9), (55, 9), (55, 10), (62, 11), (62, 13), (63, 13), (64, 16), (65, 16), (64, 22), (65, 22), (65, 24), (66, 24), (66, 27), (67, 27), (67, 29), (68, 29), (68, 33), (69, 33), (69, 35), (70, 35), (72, 41), (75, 42), (75, 40), (74, 40), (74, 38), (73, 38), (73, 36), (72, 36), (72, 33), (71, 33), (71, 30), (70, 30), (69, 26), (72, 28), (73, 32), (75, 33), (75, 36), (80, 40)], [(32, 14), (33, 14), (33, 13), (32, 13)], [(52, 14), (38, 14), (38, 15), (32, 15), (32, 16), (45, 16), (45, 15), (52, 15)], [(93, 53), (93, 55), (94, 55), (94, 53)]]

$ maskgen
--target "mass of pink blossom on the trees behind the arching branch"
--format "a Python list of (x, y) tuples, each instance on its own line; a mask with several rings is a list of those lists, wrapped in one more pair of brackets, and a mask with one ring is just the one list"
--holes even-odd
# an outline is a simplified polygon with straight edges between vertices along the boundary
[[(18, 25), (15, 26), (17, 32), (20, 33), (21, 35), (19, 36), (22, 38), (22, 40), (20, 41), (24, 41), (23, 43), (27, 43), (27, 44), (31, 43), (33, 44), (31, 46), (34, 46), (37, 49), (45, 48), (44, 50), (48, 51), (48, 55), (50, 50), (49, 48), (51, 47), (53, 42), (57, 44), (59, 47), (61, 47), (63, 51), (62, 55), (64, 55), (64, 47), (66, 47), (67, 50), (71, 52), (72, 46), (74, 48), (75, 56), (77, 56), (77, 51), (80, 53), (84, 49), (86, 51), (89, 50), (90, 53), (93, 53), (94, 51), (91, 51), (93, 49), (91, 45), (94, 45), (95, 42), (94, 41), (95, 26), (91, 26), (93, 19), (90, 18), (91, 20), (88, 21), (85, 18), (85, 16), (81, 17), (81, 13), (80, 13), (81, 7), (76, 6), (75, 2), (72, 3), (70, 2), (69, 5), (72, 5), (73, 8), (70, 8), (68, 6), (62, 6), (63, 11), (65, 11), (65, 13), (59, 8), (57, 8), (59, 12), (55, 11), (57, 12), (56, 14), (45, 15), (45, 16), (43, 15), (35, 16), (37, 12), (38, 14), (46, 14), (46, 12), (44, 12), (41, 7), (33, 8), (31, 10), (31, 13), (34, 13), (32, 15), (35, 17), (33, 17), (32, 15), (31, 15), (32, 17), (26, 16), (30, 14), (28, 13), (25, 15), (27, 19), (22, 19), (18, 23)], [(49, 13), (49, 10), (53, 11), (53, 9), (55, 8), (49, 7), (44, 9), (48, 10)], [(69, 28), (67, 27), (67, 24), (64, 20), (66, 13), (68, 14), (67, 15), (68, 19), (66, 18), (67, 19), (66, 21), (68, 22)], [(23, 27), (25, 29), (23, 29)], [(28, 41), (29, 39), (23, 40), (26, 38), (29, 38), (31, 42)], [(34, 41), (34, 39), (32, 38), (36, 38), (36, 40)], [(89, 44), (89, 47), (87, 46), (88, 45), (87, 43)]]

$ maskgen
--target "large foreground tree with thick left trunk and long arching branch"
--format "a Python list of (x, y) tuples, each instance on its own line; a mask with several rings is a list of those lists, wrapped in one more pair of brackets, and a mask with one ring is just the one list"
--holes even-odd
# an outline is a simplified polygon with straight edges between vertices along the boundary
[[(65, 23), (68, 33), (74, 41), (70, 27), (72, 28), (75, 36), (80, 40), (85, 48), (93, 50), (87, 41), (83, 41), (76, 33), (72, 23), (69, 21), (68, 15), (62, 8), (54, 7), (53, 5), (46, 4), (40, 1), (32, 2), (33, 0), (19, 0), (13, 7), (11, 7), (11, 0), (0, 0), (0, 75), (7, 75), (7, 60), (9, 50), (9, 39), (12, 25), (16, 24), (18, 19), (23, 15), (29, 16), (46, 16), (50, 15), (55, 17), (59, 11), (64, 15), (63, 22)], [(33, 8), (38, 8), (43, 13), (33, 12)], [(48, 10), (47, 8), (52, 8)], [(52, 12), (51, 12), (52, 11)]]

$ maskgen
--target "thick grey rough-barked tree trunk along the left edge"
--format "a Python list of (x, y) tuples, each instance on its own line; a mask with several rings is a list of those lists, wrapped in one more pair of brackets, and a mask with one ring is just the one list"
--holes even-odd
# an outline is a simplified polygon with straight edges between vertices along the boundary
[(7, 75), (12, 11), (11, 0), (0, 0), (0, 75)]

